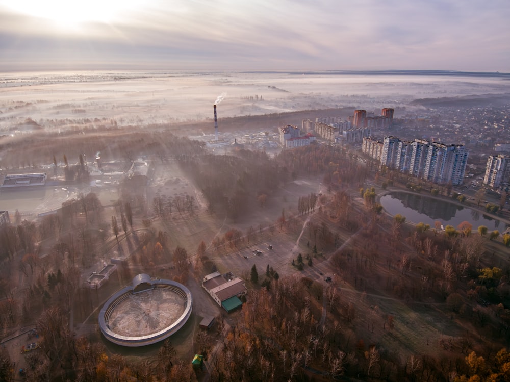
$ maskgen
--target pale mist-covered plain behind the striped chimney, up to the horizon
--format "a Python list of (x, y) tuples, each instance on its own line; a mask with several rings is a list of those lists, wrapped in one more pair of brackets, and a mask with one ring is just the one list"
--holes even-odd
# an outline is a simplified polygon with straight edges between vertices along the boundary
[[(503, 94), (505, 74), (436, 71), (155, 72), (75, 71), (0, 75), (0, 131), (66, 129), (84, 119), (144, 126), (347, 107), (419, 113), (416, 98)], [(405, 109), (404, 109), (405, 108)], [(399, 115), (400, 113), (400, 115)], [(37, 122), (26, 125), (27, 118)]]

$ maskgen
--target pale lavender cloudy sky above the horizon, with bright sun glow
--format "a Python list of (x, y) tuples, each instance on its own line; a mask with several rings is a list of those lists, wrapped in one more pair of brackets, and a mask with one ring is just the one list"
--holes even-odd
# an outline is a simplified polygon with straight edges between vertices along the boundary
[(0, 0), (0, 71), (510, 72), (508, 0)]

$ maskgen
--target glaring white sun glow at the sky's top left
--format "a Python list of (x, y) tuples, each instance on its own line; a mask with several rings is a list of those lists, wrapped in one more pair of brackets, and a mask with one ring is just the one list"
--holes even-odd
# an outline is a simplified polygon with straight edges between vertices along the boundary
[(55, 26), (78, 26), (87, 22), (110, 23), (124, 12), (135, 10), (143, 0), (8, 0), (2, 2), (13, 11), (47, 19)]

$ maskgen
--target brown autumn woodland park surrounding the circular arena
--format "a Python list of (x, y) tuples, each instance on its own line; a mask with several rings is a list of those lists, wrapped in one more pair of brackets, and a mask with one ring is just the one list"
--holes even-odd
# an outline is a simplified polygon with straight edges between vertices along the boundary
[[(405, 189), (406, 177), (328, 145), (270, 158), (250, 150), (211, 155), (199, 142), (158, 132), (134, 133), (109, 148), (99, 138), (80, 143), (100, 144), (126, 161), (150, 153), (161, 166), (177, 163), (207, 203), (200, 210), (192, 195), (145, 200), (147, 183), (135, 176), (122, 181), (111, 206), (89, 193), (38, 221), (15, 215), (0, 231), (0, 327), (4, 337), (37, 327), (40, 349), (24, 355), (30, 379), (510, 380), (510, 242), (467, 222), (443, 231), (386, 215), (377, 197)], [(62, 147), (51, 150), (44, 155), (53, 162)], [(240, 228), (250, 211), (269, 213), (268, 203), (278, 205), (280, 187), (311, 178), (321, 180), (321, 193), (297, 195), (292, 210), (278, 209), (265, 226)], [(447, 186), (419, 186), (413, 192), (451, 198)], [(228, 224), (220, 235), (191, 241), (172, 234), (207, 219)], [(245, 269), (242, 309), (219, 315), (213, 329), (190, 339), (205, 355), (206, 370), (193, 369), (172, 338), (150, 355), (130, 358), (97, 332), (75, 333), (70, 313), (87, 316), (97, 303), (96, 292), (79, 283), (81, 269), (112, 248), (126, 250), (123, 237), (132, 254), (119, 270), (123, 281), (133, 276), (130, 267), (172, 263), (173, 278), (186, 283), (265, 232), (286, 242), (302, 232), (299, 254), (281, 267)], [(24, 275), (24, 283), (13, 283), (13, 275)], [(0, 352), (0, 379), (11, 380), (13, 360), (5, 348)]]

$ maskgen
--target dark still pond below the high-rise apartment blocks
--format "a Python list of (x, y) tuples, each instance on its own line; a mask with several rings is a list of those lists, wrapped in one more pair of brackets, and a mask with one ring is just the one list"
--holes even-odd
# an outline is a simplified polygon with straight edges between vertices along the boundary
[(473, 230), (484, 225), (489, 232), (494, 230), (503, 232), (508, 228), (505, 222), (493, 219), (480, 211), (424, 195), (397, 191), (381, 196), (380, 203), (391, 215), (400, 214), (405, 216), (408, 222), (423, 222), (430, 224), (432, 228), (436, 221), (440, 221), (443, 226), (449, 224), (455, 228), (463, 221), (468, 221), (473, 225)]

